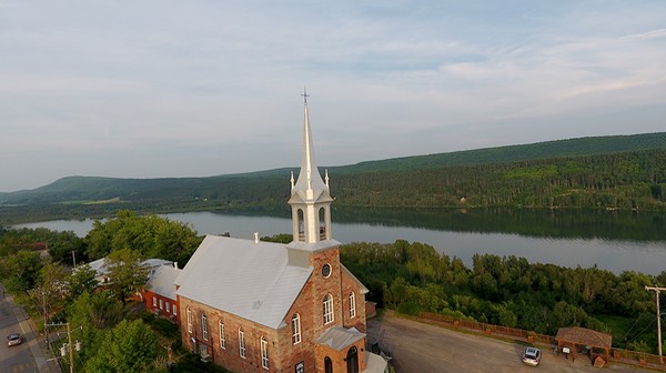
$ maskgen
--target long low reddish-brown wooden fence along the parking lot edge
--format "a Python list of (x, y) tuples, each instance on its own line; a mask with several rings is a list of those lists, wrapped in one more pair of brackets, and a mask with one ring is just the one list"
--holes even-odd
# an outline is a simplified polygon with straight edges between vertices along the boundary
[[(483, 334), (496, 335), (500, 337), (519, 342), (547, 344), (551, 345), (554, 350), (557, 347), (557, 340), (555, 340), (554, 336), (538, 334), (522, 329), (486, 324), (482, 322), (463, 320), (458, 317), (426, 312), (422, 312), (418, 315), (418, 319), (421, 321), (434, 322), (436, 324), (448, 326), (452, 329), (465, 329), (470, 331), (476, 331)], [(610, 349), (610, 361), (666, 372), (666, 359), (643, 352), (622, 349)]]

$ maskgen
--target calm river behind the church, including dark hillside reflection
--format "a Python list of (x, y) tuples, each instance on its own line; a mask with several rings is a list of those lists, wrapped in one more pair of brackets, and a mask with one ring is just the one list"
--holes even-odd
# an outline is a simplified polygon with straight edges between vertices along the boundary
[[(291, 233), (286, 210), (241, 213), (189, 212), (164, 215), (192, 224), (199, 234), (251, 239)], [(339, 219), (336, 219), (339, 216)], [(59, 220), (17, 225), (73, 231), (84, 236), (92, 220)], [(418, 241), (472, 268), (475, 253), (526, 258), (531, 263), (597, 265), (616, 274), (666, 270), (666, 216), (649, 213), (552, 211), (333, 211), (333, 238), (342, 243)]]

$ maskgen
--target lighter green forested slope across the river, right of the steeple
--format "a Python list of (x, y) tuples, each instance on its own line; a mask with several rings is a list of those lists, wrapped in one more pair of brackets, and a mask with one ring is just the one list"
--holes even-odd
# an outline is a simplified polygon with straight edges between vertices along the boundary
[(666, 209), (666, 150), (331, 178), (344, 205)]

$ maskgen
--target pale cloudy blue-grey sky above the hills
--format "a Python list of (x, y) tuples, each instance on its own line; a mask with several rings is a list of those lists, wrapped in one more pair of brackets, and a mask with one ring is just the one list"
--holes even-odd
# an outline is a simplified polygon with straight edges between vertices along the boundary
[(663, 0), (0, 0), (0, 192), (297, 169), (304, 87), (320, 168), (664, 132), (664, 14)]

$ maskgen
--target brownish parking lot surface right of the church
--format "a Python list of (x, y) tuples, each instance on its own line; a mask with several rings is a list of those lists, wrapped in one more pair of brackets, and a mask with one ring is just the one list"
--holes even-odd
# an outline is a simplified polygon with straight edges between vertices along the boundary
[[(578, 373), (601, 372), (588, 359), (575, 362), (543, 349), (542, 364), (526, 366), (521, 356), (524, 345), (500, 341), (483, 335), (455, 332), (441, 326), (385, 314), (383, 320), (367, 323), (370, 342), (393, 357), (398, 373)], [(604, 372), (648, 372), (612, 363)]]

